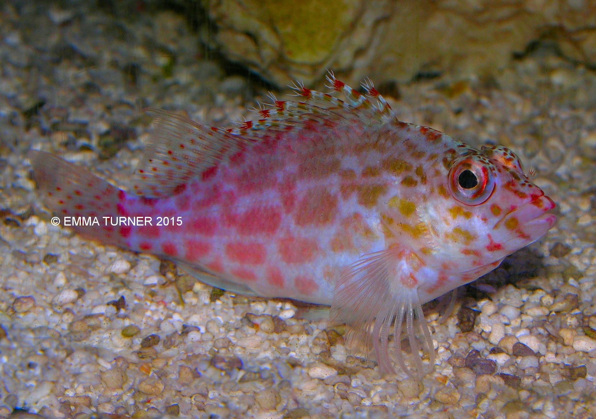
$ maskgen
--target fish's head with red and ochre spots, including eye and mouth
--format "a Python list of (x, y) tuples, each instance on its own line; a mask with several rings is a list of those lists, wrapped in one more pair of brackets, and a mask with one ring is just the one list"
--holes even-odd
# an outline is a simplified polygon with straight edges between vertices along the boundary
[(556, 217), (549, 212), (554, 202), (530, 182), (510, 149), (464, 148), (445, 170), (440, 182), (446, 196), (433, 220), (443, 271), (486, 273), (554, 226)]

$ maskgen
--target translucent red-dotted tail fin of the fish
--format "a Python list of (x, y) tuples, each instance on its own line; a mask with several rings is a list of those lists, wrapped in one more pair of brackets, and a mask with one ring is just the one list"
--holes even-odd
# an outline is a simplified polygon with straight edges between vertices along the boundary
[[(125, 197), (123, 190), (53, 154), (30, 150), (27, 157), (39, 194), (44, 204), (60, 218), (61, 225), (65, 224), (64, 217), (75, 217), (70, 218), (69, 224), (79, 224), (72, 227), (77, 233), (102, 243), (125, 245), (119, 227), (105, 226), (103, 220), (103, 217), (119, 215), (119, 201)], [(95, 217), (99, 225), (81, 225)]]

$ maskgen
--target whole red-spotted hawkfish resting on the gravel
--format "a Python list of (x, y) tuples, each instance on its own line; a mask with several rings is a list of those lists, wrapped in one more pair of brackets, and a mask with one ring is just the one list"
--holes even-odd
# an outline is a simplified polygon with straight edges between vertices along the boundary
[(235, 130), (151, 111), (132, 192), (39, 151), (34, 178), (58, 214), (168, 223), (76, 227), (85, 236), (173, 259), (234, 292), (331, 305), (384, 371), (405, 320), (422, 374), (417, 349), (434, 361), (421, 304), (539, 239), (554, 202), (508, 149), (403, 123), (372, 85), (360, 95), (328, 80), (343, 100), (296, 86), (302, 102), (273, 98)]

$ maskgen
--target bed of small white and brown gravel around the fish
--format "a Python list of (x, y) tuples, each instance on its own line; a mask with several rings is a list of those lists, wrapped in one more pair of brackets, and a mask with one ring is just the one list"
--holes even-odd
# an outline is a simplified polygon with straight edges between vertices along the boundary
[(437, 365), (418, 383), (381, 376), (341, 327), (300, 320), (290, 302), (222, 294), (49, 223), (30, 146), (126, 188), (150, 122), (141, 108), (229, 124), (266, 93), (210, 60), (184, 16), (117, 20), (91, 3), (0, 5), (0, 417), (596, 415), (593, 71), (545, 45), (496, 78), (388, 92), (404, 121), (510, 146), (560, 215), (463, 290), (454, 315), (430, 311)]

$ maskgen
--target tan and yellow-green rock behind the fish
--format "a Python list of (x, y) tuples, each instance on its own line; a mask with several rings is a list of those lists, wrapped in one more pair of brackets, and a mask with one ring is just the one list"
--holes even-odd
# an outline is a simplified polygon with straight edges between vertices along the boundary
[(596, 0), (201, 0), (201, 38), (279, 86), (496, 74), (537, 40), (596, 65)]

